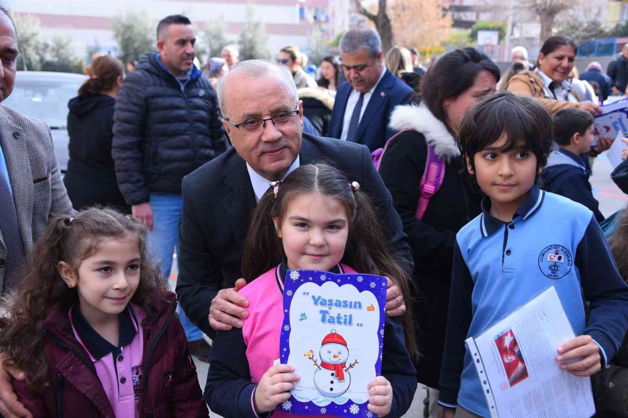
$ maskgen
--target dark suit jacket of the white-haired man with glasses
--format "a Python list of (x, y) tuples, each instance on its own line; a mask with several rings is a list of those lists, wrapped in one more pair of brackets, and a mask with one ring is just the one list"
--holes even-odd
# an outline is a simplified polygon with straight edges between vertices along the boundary
[[(303, 134), (300, 163), (332, 161), (360, 190), (373, 196), (384, 230), (402, 267), (414, 263), (391, 194), (365, 146)], [(234, 148), (183, 178), (179, 277), (176, 294), (188, 318), (210, 336), (207, 316), (220, 289), (241, 277), (242, 252), (256, 201), (246, 163)], [(345, 260), (351, 265), (350, 260)], [(245, 277), (251, 281), (255, 277)]]

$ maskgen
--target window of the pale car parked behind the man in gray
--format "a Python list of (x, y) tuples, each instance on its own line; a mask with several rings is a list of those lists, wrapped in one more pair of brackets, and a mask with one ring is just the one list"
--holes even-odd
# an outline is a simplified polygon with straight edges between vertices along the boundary
[(13, 93), (4, 100), (19, 113), (36, 117), (51, 127), (65, 127), (68, 101), (78, 93), (82, 80), (16, 80)]

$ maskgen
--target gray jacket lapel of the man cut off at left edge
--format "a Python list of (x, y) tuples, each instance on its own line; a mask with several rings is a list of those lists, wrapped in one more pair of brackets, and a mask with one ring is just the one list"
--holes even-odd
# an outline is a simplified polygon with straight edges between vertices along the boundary
[(13, 203), (18, 215), (19, 233), (22, 235), (24, 250), (32, 248), (33, 235), (33, 174), (28, 158), (28, 148), (24, 130), (15, 126), (0, 108), (0, 147), (9, 171)]

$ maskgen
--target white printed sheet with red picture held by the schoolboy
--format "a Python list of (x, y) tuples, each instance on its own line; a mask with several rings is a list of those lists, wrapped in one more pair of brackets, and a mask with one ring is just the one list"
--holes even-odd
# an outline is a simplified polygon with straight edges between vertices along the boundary
[(574, 338), (552, 286), (466, 343), (491, 418), (588, 418), (591, 380), (561, 370), (556, 349)]

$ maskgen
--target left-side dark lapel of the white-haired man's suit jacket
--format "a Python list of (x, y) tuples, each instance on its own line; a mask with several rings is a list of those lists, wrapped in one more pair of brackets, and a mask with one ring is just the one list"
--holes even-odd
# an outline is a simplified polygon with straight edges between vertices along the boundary
[(244, 248), (256, 202), (246, 163), (237, 154), (225, 172), (224, 183), (231, 191), (222, 198), (222, 207), (238, 244)]

